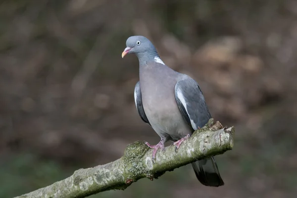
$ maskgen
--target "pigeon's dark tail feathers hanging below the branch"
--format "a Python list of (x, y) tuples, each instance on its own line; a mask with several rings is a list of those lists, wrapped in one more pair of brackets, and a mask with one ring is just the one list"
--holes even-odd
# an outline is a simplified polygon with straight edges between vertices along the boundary
[(219, 187), (224, 182), (213, 156), (192, 163), (196, 177), (205, 186)]

